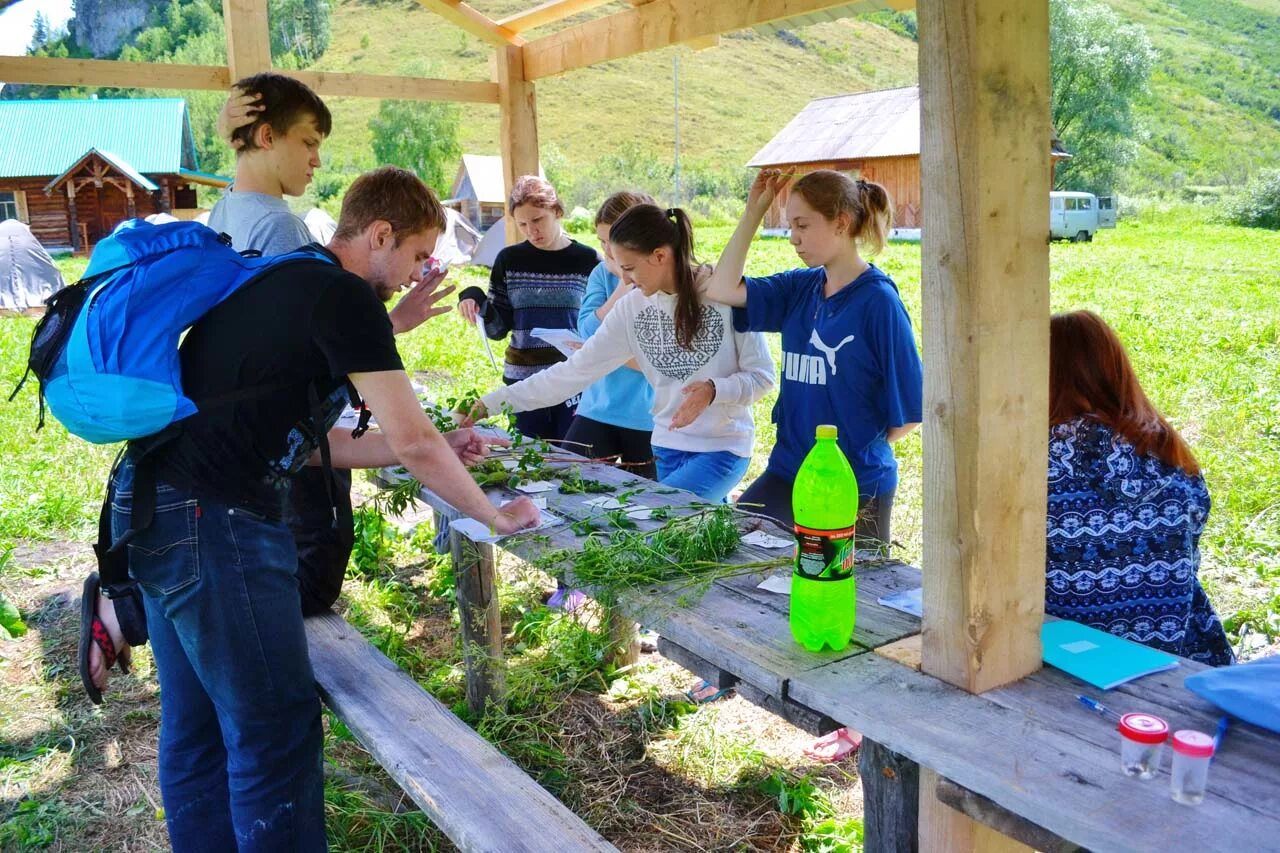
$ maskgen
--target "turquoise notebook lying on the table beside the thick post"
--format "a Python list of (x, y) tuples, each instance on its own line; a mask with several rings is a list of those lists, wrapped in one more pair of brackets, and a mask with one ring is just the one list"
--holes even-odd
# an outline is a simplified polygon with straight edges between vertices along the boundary
[(1041, 644), (1046, 663), (1103, 690), (1178, 666), (1172, 654), (1065, 619), (1044, 622)]

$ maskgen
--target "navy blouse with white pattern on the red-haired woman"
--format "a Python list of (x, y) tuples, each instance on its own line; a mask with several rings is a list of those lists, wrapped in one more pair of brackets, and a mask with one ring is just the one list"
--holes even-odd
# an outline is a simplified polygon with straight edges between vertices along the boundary
[(1208, 489), (1092, 418), (1050, 428), (1044, 610), (1202, 663), (1235, 661), (1201, 587)]

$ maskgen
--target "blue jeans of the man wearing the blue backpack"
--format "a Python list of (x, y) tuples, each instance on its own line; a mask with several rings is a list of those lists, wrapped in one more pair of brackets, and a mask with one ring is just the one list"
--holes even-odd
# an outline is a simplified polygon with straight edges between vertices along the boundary
[[(113, 537), (132, 505), (127, 460)], [(320, 698), (289, 529), (161, 482), (155, 520), (128, 552), (160, 680), (173, 849), (325, 850)]]

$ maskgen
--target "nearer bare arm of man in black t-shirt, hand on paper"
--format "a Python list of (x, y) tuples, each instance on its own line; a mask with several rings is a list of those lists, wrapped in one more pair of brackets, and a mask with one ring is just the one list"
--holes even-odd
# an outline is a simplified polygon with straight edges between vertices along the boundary
[(489, 502), (422, 411), (404, 371), (353, 373), (351, 382), (369, 407), (378, 412), (378, 425), (388, 448), (426, 488), (460, 512), (499, 533), (515, 533), (538, 523), (538, 507), (527, 498), (512, 501), (500, 510)]

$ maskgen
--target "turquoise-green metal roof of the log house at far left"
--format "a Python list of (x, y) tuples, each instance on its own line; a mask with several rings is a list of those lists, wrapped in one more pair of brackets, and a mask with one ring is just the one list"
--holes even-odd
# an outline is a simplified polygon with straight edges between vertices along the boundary
[(90, 149), (143, 174), (200, 168), (180, 97), (0, 101), (0, 178), (58, 175)]

